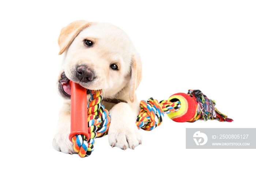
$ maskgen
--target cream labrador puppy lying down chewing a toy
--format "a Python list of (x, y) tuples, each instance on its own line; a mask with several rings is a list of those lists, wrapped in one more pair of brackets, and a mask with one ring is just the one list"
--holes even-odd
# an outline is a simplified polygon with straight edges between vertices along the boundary
[(102, 89), (103, 98), (108, 99), (103, 105), (111, 116), (110, 146), (134, 149), (142, 140), (135, 124), (140, 109), (135, 90), (142, 79), (142, 64), (128, 35), (109, 23), (78, 20), (62, 28), (58, 43), (63, 62), (57, 88), (64, 104), (53, 139), (54, 149), (75, 153), (68, 139), (69, 80), (89, 90)]

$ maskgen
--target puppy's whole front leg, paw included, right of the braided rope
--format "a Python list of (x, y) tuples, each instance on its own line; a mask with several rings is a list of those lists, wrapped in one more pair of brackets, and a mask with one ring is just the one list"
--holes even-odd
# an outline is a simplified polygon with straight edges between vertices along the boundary
[(127, 103), (116, 104), (110, 110), (111, 123), (108, 137), (110, 146), (134, 149), (141, 144), (142, 136), (136, 126), (138, 109), (131, 108)]

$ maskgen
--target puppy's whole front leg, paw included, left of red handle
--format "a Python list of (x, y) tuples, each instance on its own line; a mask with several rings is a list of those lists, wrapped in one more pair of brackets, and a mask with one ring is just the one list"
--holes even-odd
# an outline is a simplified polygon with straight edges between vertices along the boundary
[(76, 153), (73, 143), (70, 142), (68, 136), (70, 134), (70, 101), (64, 101), (64, 105), (59, 113), (59, 121), (57, 124), (56, 134), (53, 138), (52, 146), (55, 150), (65, 154)]

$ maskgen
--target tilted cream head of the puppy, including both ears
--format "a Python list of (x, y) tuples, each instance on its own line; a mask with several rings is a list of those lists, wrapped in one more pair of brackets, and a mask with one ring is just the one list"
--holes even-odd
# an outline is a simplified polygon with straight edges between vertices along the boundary
[(64, 59), (58, 80), (59, 93), (70, 98), (69, 80), (90, 90), (103, 89), (114, 97), (129, 89), (131, 102), (141, 78), (141, 60), (131, 40), (109, 23), (78, 20), (61, 30), (58, 43)]

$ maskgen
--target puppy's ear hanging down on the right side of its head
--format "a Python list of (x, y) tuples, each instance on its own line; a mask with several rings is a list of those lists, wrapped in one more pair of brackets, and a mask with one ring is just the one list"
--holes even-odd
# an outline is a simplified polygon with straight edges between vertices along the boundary
[(129, 98), (132, 103), (135, 98), (135, 90), (138, 88), (140, 81), (142, 79), (142, 63), (141, 63), (139, 54), (137, 54), (136, 56), (132, 55), (132, 61), (131, 61), (132, 78), (131, 78), (131, 88), (130, 88)]

